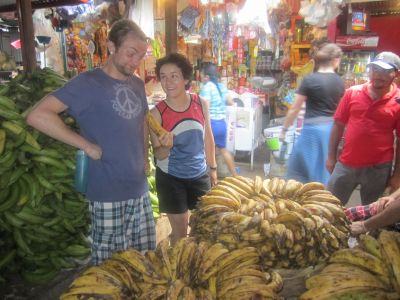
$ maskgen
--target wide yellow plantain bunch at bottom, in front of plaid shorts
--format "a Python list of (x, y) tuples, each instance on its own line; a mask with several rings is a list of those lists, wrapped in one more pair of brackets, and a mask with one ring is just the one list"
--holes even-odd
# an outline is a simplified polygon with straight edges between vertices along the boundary
[(61, 300), (73, 299), (280, 299), (282, 278), (260, 267), (257, 249), (229, 251), (221, 243), (163, 240), (155, 251), (116, 252), (85, 270)]

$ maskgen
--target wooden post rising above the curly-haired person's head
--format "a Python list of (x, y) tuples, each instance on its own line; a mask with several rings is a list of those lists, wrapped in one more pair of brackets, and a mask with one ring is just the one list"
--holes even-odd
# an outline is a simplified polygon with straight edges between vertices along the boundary
[(177, 52), (177, 0), (165, 0), (165, 50), (167, 54)]

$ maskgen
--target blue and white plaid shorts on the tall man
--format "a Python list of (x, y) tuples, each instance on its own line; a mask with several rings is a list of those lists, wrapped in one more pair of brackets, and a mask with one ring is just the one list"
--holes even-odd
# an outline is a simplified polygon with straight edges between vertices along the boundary
[(156, 230), (149, 193), (119, 202), (90, 201), (92, 263), (99, 265), (117, 250), (155, 249)]

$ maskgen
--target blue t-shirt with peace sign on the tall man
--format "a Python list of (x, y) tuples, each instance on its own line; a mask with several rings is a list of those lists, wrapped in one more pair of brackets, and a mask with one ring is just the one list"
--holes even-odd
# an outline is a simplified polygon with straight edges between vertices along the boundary
[(144, 172), (144, 117), (148, 111), (144, 84), (131, 76), (114, 79), (94, 69), (53, 93), (68, 106), (80, 134), (102, 149), (90, 160), (87, 197), (116, 202), (138, 198), (147, 190)]

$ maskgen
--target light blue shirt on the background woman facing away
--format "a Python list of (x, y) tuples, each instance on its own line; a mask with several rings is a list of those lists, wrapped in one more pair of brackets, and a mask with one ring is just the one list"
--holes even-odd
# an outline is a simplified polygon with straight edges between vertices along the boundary
[(200, 97), (210, 103), (210, 119), (223, 120), (226, 118), (226, 96), (228, 89), (222, 83), (218, 83), (221, 95), (215, 83), (208, 81), (200, 91)]

